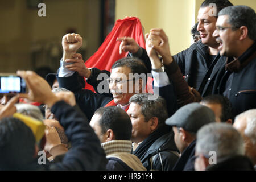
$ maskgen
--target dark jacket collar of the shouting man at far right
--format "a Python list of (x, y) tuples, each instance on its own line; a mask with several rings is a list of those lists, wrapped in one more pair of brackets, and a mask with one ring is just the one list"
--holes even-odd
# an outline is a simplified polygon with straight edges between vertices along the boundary
[(227, 57), (226, 70), (229, 69), (230, 72), (238, 72), (246, 67), (254, 57), (256, 57), (256, 42), (237, 59), (230, 61)]

